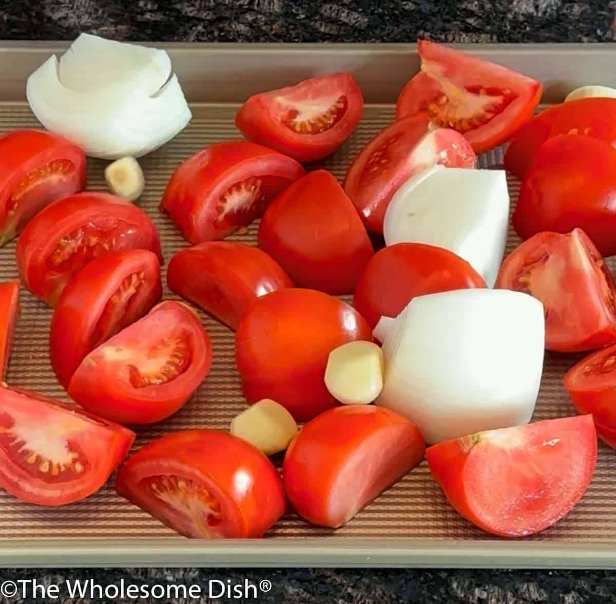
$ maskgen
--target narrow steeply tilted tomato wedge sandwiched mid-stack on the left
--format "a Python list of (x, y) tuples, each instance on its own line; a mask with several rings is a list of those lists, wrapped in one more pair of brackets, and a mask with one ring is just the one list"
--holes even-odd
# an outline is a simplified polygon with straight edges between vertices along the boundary
[(153, 251), (112, 251), (76, 272), (58, 300), (49, 332), (49, 356), (60, 383), (67, 388), (90, 351), (144, 316), (161, 295)]

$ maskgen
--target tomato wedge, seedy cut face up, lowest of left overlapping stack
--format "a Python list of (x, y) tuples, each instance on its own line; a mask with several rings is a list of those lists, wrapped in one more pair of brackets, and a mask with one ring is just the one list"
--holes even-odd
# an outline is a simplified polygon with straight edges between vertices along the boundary
[(68, 395), (113, 422), (160, 422), (197, 390), (211, 363), (212, 344), (197, 314), (161, 302), (89, 353)]

